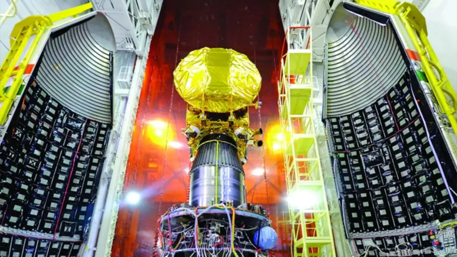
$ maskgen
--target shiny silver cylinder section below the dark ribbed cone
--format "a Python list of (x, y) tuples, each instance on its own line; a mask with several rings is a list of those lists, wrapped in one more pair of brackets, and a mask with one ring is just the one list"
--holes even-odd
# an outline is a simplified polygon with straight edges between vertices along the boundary
[[(218, 167), (218, 202), (244, 203), (244, 174), (228, 166)], [(216, 166), (202, 166), (191, 173), (190, 204), (210, 206), (216, 201)]]

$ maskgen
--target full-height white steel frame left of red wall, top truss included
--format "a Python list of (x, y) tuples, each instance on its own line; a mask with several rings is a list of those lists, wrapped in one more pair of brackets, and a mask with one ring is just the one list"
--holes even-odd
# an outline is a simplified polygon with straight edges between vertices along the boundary
[[(130, 143), (143, 86), (149, 45), (163, 0), (91, 0), (111, 23), (117, 50), (134, 51), (133, 63), (121, 66), (114, 90), (114, 126), (103, 166), (84, 257), (111, 255)], [(133, 71), (133, 74), (132, 74)]]

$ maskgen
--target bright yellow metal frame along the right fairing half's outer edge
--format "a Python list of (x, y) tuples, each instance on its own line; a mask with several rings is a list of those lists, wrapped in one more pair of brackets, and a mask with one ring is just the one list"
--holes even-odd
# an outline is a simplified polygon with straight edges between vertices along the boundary
[(438, 58), (427, 38), (425, 18), (414, 4), (394, 0), (356, 0), (360, 5), (400, 17), (408, 35), (416, 48), (427, 80), (440, 105), (446, 114), (454, 133), (457, 134), (457, 95), (452, 89)]

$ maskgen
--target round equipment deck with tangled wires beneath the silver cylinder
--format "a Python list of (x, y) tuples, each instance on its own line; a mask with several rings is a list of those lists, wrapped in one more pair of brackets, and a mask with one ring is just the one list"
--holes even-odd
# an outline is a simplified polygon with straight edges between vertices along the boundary
[(267, 256), (266, 249), (255, 245), (254, 233), (270, 224), (259, 205), (246, 204), (244, 209), (224, 203), (198, 208), (180, 204), (158, 220), (161, 255)]

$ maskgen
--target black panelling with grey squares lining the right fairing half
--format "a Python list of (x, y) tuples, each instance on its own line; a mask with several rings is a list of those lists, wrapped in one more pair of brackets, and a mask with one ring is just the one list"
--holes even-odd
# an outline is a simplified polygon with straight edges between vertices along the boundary
[[(443, 149), (430, 145), (420, 100), (413, 95), (418, 91), (413, 90), (405, 73), (372, 105), (326, 120), (350, 232), (394, 230), (453, 218), (446, 177), (440, 172), (440, 167), (453, 166), (442, 162), (438, 166), (435, 156), (441, 159)], [(431, 125), (429, 134), (434, 131)]]

